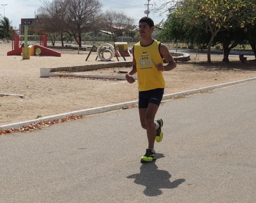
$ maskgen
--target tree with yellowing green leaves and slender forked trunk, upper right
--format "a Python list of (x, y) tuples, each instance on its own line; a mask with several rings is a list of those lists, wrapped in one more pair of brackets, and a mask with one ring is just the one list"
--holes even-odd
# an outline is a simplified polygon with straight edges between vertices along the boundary
[(217, 33), (232, 27), (245, 28), (253, 23), (256, 5), (251, 0), (183, 0), (176, 14), (205, 32), (211, 33), (207, 44), (207, 62), (211, 62), (211, 46)]

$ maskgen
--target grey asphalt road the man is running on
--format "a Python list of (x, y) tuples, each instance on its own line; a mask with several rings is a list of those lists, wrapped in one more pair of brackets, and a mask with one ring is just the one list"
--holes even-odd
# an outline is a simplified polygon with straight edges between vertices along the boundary
[(0, 136), (0, 202), (256, 202), (256, 81), (165, 100), (158, 158), (138, 109)]

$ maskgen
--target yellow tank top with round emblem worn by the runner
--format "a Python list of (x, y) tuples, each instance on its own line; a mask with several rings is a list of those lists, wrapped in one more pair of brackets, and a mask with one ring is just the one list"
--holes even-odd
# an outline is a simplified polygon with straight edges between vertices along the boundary
[(133, 57), (136, 60), (138, 91), (165, 88), (165, 79), (162, 71), (158, 71), (155, 64), (163, 63), (159, 51), (160, 42), (154, 40), (148, 46), (142, 46), (140, 42), (133, 47)]

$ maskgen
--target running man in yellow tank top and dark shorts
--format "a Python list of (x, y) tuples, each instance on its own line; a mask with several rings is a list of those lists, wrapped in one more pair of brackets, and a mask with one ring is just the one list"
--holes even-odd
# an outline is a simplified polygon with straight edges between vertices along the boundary
[[(176, 62), (168, 48), (152, 38), (154, 21), (143, 17), (139, 20), (139, 36), (141, 41), (132, 48), (133, 67), (125, 75), (127, 82), (135, 82), (131, 76), (137, 73), (138, 82), (138, 111), (142, 128), (147, 132), (148, 147), (141, 162), (150, 162), (156, 158), (155, 140), (162, 140), (162, 119), (155, 121), (155, 115), (164, 95), (165, 80), (163, 71), (176, 68)], [(164, 66), (164, 59), (167, 65)]]

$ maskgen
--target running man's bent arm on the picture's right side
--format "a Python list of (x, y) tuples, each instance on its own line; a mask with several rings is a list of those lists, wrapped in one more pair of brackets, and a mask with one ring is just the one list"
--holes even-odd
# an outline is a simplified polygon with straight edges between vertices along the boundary
[(160, 45), (160, 54), (162, 58), (164, 58), (168, 62), (168, 64), (165, 66), (164, 64), (157, 64), (156, 67), (159, 71), (170, 71), (176, 68), (177, 64), (173, 57), (171, 56), (168, 48), (164, 44)]

